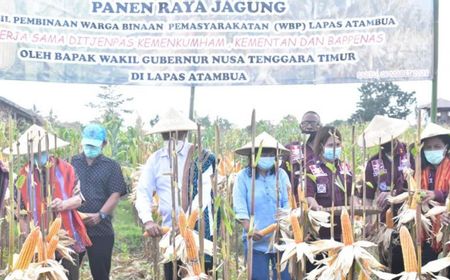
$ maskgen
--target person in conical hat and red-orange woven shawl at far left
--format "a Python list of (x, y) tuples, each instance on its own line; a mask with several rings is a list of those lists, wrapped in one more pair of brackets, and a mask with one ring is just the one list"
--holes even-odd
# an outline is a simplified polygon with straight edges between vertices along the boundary
[[(80, 191), (72, 165), (49, 155), (50, 151), (46, 148), (46, 134), (48, 134), (49, 149), (54, 149), (55, 146), (59, 148), (69, 145), (69, 143), (47, 133), (42, 127), (32, 125), (19, 137), (18, 148), (17, 145), (13, 146), (12, 153), (14, 155), (27, 155), (29, 152), (32, 155), (32, 158), (19, 170), (19, 177), (25, 178), (25, 180), (16, 181), (16, 200), (18, 200), (18, 192), (20, 192), (21, 209), (27, 213), (18, 217), (21, 236), (29, 233), (30, 222), (34, 226), (50, 224), (51, 221), (47, 221), (47, 213), (42, 211), (43, 209), (53, 210), (54, 214), (59, 214), (62, 228), (74, 240), (71, 248), (75, 253), (71, 254), (71, 257), (75, 264), (62, 259), (58, 252), (56, 253), (56, 259), (61, 260), (62, 265), (67, 270), (68, 279), (78, 280), (79, 254), (85, 252), (86, 247), (92, 244), (87, 235), (86, 227), (76, 211), (84, 202), (84, 196)], [(28, 148), (30, 148), (30, 151), (28, 151)], [(5, 149), (5, 152), (9, 153), (9, 149)], [(17, 185), (20, 184), (19, 181), (23, 183)], [(51, 193), (47, 193), (47, 184), (51, 187)], [(47, 196), (52, 196), (50, 205), (47, 205)], [(42, 205), (44, 207), (40, 207)]]

